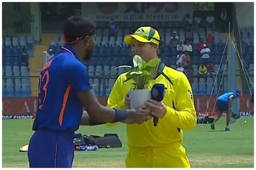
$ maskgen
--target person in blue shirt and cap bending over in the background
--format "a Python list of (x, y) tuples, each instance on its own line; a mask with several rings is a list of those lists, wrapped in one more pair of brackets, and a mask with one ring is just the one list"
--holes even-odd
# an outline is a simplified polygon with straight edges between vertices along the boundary
[(215, 117), (213, 123), (211, 124), (212, 130), (215, 129), (215, 123), (223, 115), (223, 112), (227, 112), (225, 131), (230, 131), (229, 125), (230, 125), (230, 119), (232, 116), (232, 103), (235, 98), (240, 97), (240, 96), (241, 96), (241, 91), (239, 89), (237, 89), (232, 92), (220, 95), (217, 98), (217, 102), (216, 102), (216, 106), (215, 106), (215, 111), (217, 112), (217, 116)]

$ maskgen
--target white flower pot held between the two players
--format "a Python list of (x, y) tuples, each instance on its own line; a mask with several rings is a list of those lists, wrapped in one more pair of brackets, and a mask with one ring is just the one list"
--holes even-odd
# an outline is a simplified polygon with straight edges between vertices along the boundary
[(151, 90), (131, 90), (129, 91), (130, 108), (136, 109), (151, 99)]

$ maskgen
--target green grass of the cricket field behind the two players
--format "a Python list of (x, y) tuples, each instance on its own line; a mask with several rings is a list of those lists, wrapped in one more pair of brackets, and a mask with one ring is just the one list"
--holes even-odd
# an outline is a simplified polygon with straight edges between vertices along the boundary
[[(245, 124), (244, 121), (247, 121)], [(253, 163), (253, 117), (241, 117), (231, 124), (231, 131), (225, 132), (225, 117), (215, 127), (197, 125), (196, 130), (184, 132), (184, 146), (192, 167), (252, 168)], [(31, 131), (29, 120), (3, 120), (3, 167), (28, 167), (26, 152), (18, 152), (19, 147), (28, 143)], [(127, 152), (125, 125), (112, 128), (81, 126), (82, 134), (118, 133), (121, 148), (104, 148), (99, 151), (75, 152), (73, 167), (125, 167)]]

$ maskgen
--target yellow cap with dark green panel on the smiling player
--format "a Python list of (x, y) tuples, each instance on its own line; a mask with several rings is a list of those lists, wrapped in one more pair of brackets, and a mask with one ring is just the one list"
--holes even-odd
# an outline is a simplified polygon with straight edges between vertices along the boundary
[(149, 43), (152, 42), (154, 44), (159, 45), (160, 43), (160, 36), (157, 30), (153, 29), (150, 26), (142, 26), (137, 29), (134, 34), (128, 34), (124, 37), (124, 42), (126, 44), (131, 45), (132, 38), (140, 41)]

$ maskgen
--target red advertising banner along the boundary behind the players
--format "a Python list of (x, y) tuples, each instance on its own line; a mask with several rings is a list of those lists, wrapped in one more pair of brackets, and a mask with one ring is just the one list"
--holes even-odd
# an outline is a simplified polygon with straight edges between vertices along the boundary
[[(97, 97), (102, 105), (106, 105), (107, 97)], [(240, 112), (252, 112), (253, 104), (250, 102), (250, 95), (242, 95), (238, 99)], [(216, 96), (194, 95), (194, 104), (197, 112), (212, 112)], [(210, 102), (209, 102), (210, 101)], [(28, 115), (35, 114), (37, 110), (37, 97), (3, 97), (2, 115)]]

